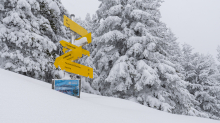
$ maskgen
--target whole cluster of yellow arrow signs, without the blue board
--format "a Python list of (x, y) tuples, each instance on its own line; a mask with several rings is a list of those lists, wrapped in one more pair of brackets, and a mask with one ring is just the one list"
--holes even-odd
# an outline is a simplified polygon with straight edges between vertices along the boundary
[[(76, 41), (80, 40), (81, 38), (86, 37), (87, 43), (92, 42), (92, 34), (88, 33), (86, 29), (78, 25), (76, 22), (72, 21), (70, 18), (64, 15), (64, 25), (70, 28), (72, 31), (78, 33), (82, 37), (76, 39)], [(81, 76), (93, 78), (93, 69), (91, 67), (87, 67), (75, 62), (82, 57), (83, 55), (90, 56), (90, 52), (83, 49), (82, 46), (76, 46), (64, 40), (60, 41), (60, 44), (63, 46), (64, 55), (56, 58), (54, 65), (57, 68), (60, 66), (61, 70), (65, 70), (70, 73), (78, 74)], [(67, 50), (70, 50), (66, 53)]]

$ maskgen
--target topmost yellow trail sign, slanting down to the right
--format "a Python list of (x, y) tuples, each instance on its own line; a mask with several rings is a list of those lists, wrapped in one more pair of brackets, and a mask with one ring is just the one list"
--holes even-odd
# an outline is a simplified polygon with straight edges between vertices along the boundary
[(70, 28), (72, 31), (78, 33), (81, 36), (87, 35), (88, 32), (86, 29), (84, 29), (83, 27), (81, 27), (79, 24), (77, 24), (76, 22), (72, 21), (70, 18), (68, 18), (66, 15), (63, 16), (63, 24), (64, 26)]

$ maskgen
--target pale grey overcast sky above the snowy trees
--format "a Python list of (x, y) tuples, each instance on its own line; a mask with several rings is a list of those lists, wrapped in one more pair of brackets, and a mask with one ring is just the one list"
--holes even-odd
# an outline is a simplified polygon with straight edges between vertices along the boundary
[[(70, 14), (85, 18), (96, 12), (98, 0), (61, 0)], [(195, 52), (217, 55), (220, 45), (220, 0), (164, 0), (160, 7), (162, 21)]]

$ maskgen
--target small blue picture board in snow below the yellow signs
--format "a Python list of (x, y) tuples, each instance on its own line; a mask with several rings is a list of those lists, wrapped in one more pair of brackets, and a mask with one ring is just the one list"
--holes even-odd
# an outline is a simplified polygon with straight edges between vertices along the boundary
[(59, 92), (79, 96), (79, 80), (55, 80), (54, 87)]

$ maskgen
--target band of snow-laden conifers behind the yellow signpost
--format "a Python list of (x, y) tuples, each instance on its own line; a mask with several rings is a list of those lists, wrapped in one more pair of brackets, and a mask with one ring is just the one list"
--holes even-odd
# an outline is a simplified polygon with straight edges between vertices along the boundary
[[(51, 82), (69, 16), (60, 0), (4, 0), (0, 68)], [(179, 45), (161, 22), (161, 0), (99, 0), (97, 13), (76, 22), (92, 32), (91, 52), (78, 62), (94, 69), (82, 91), (131, 100), (158, 110), (220, 120), (220, 67), (213, 56)], [(220, 61), (220, 47), (217, 48)], [(70, 74), (70, 77), (74, 75)]]

